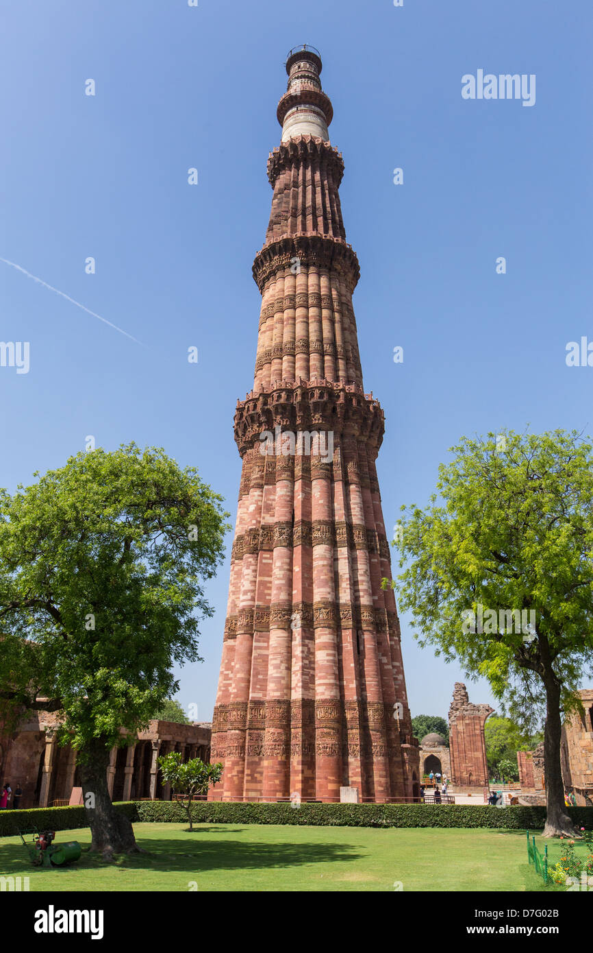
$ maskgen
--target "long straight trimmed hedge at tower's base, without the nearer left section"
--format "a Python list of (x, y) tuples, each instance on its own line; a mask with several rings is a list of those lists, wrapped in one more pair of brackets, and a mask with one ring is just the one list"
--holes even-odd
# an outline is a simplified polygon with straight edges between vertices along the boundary
[[(185, 821), (187, 812), (176, 801), (138, 801), (138, 821)], [(571, 807), (567, 813), (578, 827), (593, 829), (593, 807)], [(308, 804), (197, 801), (191, 805), (194, 823), (311, 824), (327, 827), (500, 827), (541, 830), (544, 807), (491, 807), (472, 804)]]

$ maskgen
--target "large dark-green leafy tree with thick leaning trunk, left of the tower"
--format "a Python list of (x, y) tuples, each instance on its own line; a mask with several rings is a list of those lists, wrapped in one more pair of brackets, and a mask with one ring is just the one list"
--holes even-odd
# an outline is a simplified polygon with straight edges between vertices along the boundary
[(136, 849), (109, 799), (109, 750), (178, 690), (175, 663), (201, 660), (198, 622), (212, 614), (202, 580), (227, 529), (220, 504), (196, 470), (133, 443), (0, 491), (0, 696), (14, 712), (60, 715), (91, 849), (106, 856)]

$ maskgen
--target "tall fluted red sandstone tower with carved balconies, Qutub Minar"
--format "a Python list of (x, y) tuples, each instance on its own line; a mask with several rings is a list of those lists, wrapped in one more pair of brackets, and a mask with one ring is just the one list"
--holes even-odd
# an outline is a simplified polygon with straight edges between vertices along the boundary
[[(393, 593), (381, 588), (391, 578), (375, 469), (384, 414), (363, 387), (352, 310), (359, 265), (346, 243), (344, 163), (328, 141), (321, 70), (310, 47), (288, 54), (282, 140), (267, 162), (274, 194), (253, 264), (262, 294), (255, 379), (234, 422), (243, 473), (212, 725), (211, 760), (224, 773), (213, 800), (340, 801), (342, 786), (370, 801), (418, 793), (400, 626)], [(271, 451), (265, 434), (275, 437)]]

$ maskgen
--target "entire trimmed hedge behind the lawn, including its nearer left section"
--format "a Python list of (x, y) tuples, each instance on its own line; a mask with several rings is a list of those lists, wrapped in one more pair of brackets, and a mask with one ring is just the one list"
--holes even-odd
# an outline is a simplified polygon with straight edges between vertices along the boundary
[[(116, 804), (130, 821), (177, 823), (187, 821), (177, 801), (126, 801)], [(577, 827), (593, 830), (593, 807), (568, 807)], [(303, 824), (323, 827), (498, 827), (505, 830), (541, 830), (544, 807), (490, 807), (479, 804), (309, 804), (196, 801), (194, 823)], [(69, 830), (88, 827), (85, 808), (36, 807), (29, 811), (0, 811), (0, 837), (33, 827)]]

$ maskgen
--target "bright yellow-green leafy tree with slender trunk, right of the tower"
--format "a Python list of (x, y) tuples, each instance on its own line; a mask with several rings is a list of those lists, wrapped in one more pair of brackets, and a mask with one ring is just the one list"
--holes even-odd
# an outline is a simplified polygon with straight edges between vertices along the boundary
[(591, 445), (576, 432), (489, 434), (453, 453), (442, 502), (403, 507), (400, 603), (421, 644), (489, 679), (525, 730), (545, 715), (544, 835), (572, 835), (560, 743), (593, 660)]

